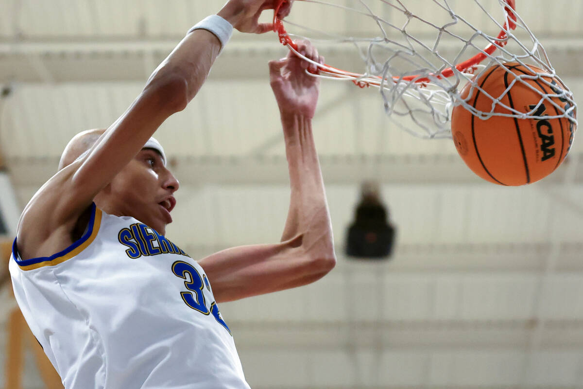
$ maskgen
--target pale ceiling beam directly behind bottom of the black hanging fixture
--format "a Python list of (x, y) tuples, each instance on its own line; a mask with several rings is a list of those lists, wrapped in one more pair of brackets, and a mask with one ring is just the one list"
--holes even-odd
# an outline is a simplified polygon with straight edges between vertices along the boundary
[[(344, 254), (342, 242), (337, 242), (337, 269), (350, 269), (355, 274), (373, 274), (382, 277), (385, 269), (392, 275), (512, 275), (517, 278), (536, 276), (545, 272), (545, 259), (550, 254), (550, 243), (540, 244), (397, 244), (392, 260), (355, 260)], [(203, 258), (228, 246), (193, 246), (184, 244), (192, 258)], [(556, 274), (581, 274), (582, 244), (561, 244), (556, 263)], [(376, 282), (380, 285), (380, 281)], [(458, 296), (462, 296), (458, 293)], [(379, 296), (382, 306), (384, 296)], [(459, 304), (456, 311), (461, 311)]]

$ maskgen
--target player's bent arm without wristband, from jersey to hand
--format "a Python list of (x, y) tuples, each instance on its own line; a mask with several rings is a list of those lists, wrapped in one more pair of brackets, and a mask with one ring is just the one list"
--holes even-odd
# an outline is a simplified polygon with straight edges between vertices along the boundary
[[(323, 58), (300, 44), (309, 58)], [(308, 63), (290, 54), (269, 64), (282, 118), (291, 197), (280, 243), (230, 248), (199, 262), (217, 302), (276, 292), (317, 281), (336, 264), (324, 183), (312, 136), (318, 79)]]

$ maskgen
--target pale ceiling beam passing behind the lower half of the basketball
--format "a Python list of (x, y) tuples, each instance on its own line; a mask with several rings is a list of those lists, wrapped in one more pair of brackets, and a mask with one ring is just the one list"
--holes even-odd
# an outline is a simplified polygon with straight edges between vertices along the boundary
[[(183, 184), (287, 184), (285, 156), (173, 156), (172, 169)], [(583, 154), (570, 156), (577, 165), (574, 184), (583, 184)], [(484, 184), (457, 155), (320, 155), (326, 184), (376, 180), (390, 184)], [(8, 167), (16, 185), (42, 185), (55, 174), (59, 157), (12, 157)], [(566, 164), (564, 164), (566, 165)], [(560, 166), (539, 187), (563, 185)]]

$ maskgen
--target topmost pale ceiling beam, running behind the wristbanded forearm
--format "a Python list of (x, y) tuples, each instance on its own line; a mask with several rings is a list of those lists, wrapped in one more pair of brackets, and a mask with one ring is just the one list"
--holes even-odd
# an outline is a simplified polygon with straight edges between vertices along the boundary
[[(0, 82), (13, 79), (19, 82), (38, 83), (43, 78), (34, 71), (21, 66), (27, 55), (39, 55), (47, 69), (55, 76), (56, 82), (96, 82), (141, 80), (147, 76), (140, 71), (142, 66), (149, 75), (151, 71), (170, 53), (181, 37), (143, 40), (112, 39), (75, 41), (0, 41)], [(563, 77), (580, 76), (578, 69), (583, 66), (583, 38), (557, 39), (545, 41), (547, 53), (552, 59), (557, 73)], [(318, 44), (318, 49), (326, 56), (329, 64), (343, 64), (354, 71), (364, 71), (364, 62), (353, 48), (338, 44)], [(459, 43), (444, 44), (440, 54), (445, 57), (459, 51)], [(281, 57), (286, 49), (273, 37), (264, 36), (257, 40), (239, 37), (227, 45), (217, 60), (212, 77), (216, 79), (257, 79), (265, 78), (266, 63)], [(145, 58), (145, 57), (150, 58)], [(4, 66), (2, 66), (5, 64)], [(104, 66), (104, 62), (110, 65)], [(94, 65), (93, 65), (94, 64)], [(93, 66), (96, 71), (92, 71)], [(82, 71), (79, 71), (79, 67)], [(136, 69), (129, 72), (128, 69)], [(32, 73), (32, 74), (31, 74)]]

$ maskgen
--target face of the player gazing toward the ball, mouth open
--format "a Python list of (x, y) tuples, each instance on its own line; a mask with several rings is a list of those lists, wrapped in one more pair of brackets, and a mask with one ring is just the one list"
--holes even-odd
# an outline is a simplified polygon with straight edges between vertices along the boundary
[(178, 180), (166, 169), (160, 154), (142, 149), (111, 181), (108, 199), (116, 215), (132, 216), (165, 234), (166, 225), (172, 222), (177, 190)]

